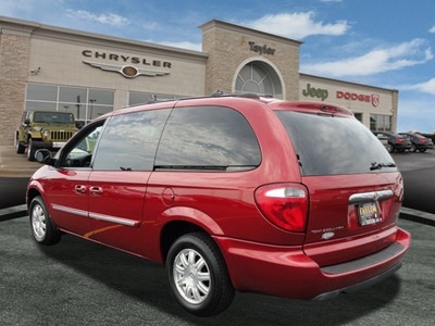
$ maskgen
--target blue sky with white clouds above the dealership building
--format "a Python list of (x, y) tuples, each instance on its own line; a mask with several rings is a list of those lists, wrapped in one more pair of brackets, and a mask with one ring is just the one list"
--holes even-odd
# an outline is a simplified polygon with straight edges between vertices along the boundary
[(399, 90), (398, 131), (435, 131), (434, 0), (1, 0), (0, 15), (201, 51), (220, 20), (302, 41), (300, 73)]

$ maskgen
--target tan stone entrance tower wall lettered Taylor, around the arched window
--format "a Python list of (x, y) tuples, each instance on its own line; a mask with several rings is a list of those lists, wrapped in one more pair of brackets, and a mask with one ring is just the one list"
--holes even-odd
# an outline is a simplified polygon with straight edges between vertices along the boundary
[(261, 61), (278, 74), (284, 99), (298, 99), (300, 42), (220, 21), (200, 28), (202, 51), (209, 55), (206, 93), (233, 92), (237, 73), (249, 62)]

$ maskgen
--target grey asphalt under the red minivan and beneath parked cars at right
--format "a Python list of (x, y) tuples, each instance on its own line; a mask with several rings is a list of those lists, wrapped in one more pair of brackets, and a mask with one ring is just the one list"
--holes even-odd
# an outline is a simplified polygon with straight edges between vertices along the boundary
[[(415, 165), (431, 179), (426, 171), (435, 170), (435, 155), (395, 155), (400, 168), (406, 166), (405, 179)], [(0, 324), (433, 325), (434, 227), (406, 220), (399, 225), (413, 242), (403, 267), (383, 283), (321, 302), (237, 293), (224, 313), (199, 318), (171, 298), (163, 266), (72, 236), (40, 247), (32, 239), (28, 216), (5, 220), (0, 222)]]

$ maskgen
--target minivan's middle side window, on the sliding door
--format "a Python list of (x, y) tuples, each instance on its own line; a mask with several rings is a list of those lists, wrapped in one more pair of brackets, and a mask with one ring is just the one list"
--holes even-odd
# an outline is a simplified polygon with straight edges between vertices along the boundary
[(98, 145), (94, 170), (151, 171), (171, 109), (113, 116)]

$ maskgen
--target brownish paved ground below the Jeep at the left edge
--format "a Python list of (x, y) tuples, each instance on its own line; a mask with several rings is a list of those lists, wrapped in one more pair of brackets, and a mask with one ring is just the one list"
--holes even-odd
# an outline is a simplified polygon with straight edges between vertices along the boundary
[(41, 166), (17, 154), (13, 146), (0, 146), (0, 177), (30, 177)]

